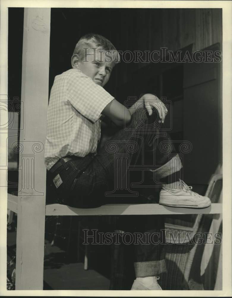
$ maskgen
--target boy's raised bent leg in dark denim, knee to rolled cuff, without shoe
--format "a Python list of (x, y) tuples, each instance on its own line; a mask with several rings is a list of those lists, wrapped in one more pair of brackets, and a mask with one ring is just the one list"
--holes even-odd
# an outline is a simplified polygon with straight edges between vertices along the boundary
[[(132, 115), (130, 124), (120, 129), (98, 151), (96, 158), (105, 169), (108, 184), (111, 187), (114, 187), (112, 181), (115, 182), (119, 170), (115, 164), (117, 156), (128, 159), (132, 172), (134, 172), (133, 166), (140, 165), (143, 170), (154, 171), (155, 178), (158, 179), (171, 177), (173, 173), (178, 173), (182, 168), (170, 136), (166, 133), (164, 126), (158, 122), (157, 113), (153, 112), (149, 116), (142, 109), (137, 110)], [(124, 177), (120, 177), (122, 180), (128, 177), (127, 171), (128, 169), (124, 167), (124, 171), (121, 172)], [(151, 174), (153, 176), (153, 173)]]

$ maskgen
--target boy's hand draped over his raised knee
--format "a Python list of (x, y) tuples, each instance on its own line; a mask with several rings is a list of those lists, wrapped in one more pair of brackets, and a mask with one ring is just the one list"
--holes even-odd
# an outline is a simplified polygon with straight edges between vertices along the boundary
[[(168, 109), (165, 107), (165, 104), (162, 103), (162, 101), (155, 95), (153, 94), (144, 94), (138, 101), (137, 103), (143, 103), (148, 111), (149, 116), (152, 114), (152, 108), (156, 108), (160, 117), (160, 121), (164, 123), (164, 119), (166, 115), (168, 114)], [(139, 104), (138, 106), (141, 105)]]

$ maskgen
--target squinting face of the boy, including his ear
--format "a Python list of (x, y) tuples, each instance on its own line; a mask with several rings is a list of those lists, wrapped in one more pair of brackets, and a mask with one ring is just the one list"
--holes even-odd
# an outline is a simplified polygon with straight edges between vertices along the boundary
[(77, 55), (73, 55), (72, 67), (81, 70), (83, 74), (91, 77), (95, 84), (103, 87), (108, 82), (115, 65), (113, 61), (107, 61), (112, 61), (112, 58), (104, 50), (89, 48), (86, 57), (83, 59), (78, 59)]

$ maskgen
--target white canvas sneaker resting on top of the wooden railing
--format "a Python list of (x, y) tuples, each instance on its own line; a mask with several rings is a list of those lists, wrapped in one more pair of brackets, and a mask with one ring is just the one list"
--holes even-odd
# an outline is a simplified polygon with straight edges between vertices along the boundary
[(207, 197), (194, 193), (192, 186), (188, 186), (179, 179), (178, 182), (162, 187), (159, 204), (170, 207), (206, 208), (211, 205), (211, 201)]

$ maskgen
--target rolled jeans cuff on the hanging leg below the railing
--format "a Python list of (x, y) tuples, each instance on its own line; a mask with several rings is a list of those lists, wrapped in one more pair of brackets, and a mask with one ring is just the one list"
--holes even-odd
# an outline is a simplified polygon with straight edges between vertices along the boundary
[(167, 272), (165, 260), (135, 262), (134, 267), (136, 277), (155, 276)]

